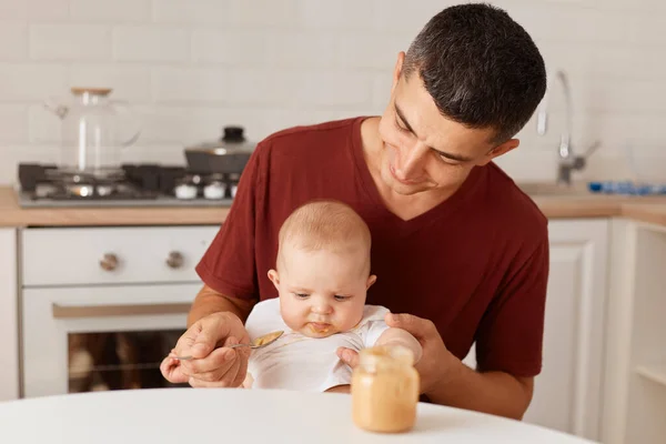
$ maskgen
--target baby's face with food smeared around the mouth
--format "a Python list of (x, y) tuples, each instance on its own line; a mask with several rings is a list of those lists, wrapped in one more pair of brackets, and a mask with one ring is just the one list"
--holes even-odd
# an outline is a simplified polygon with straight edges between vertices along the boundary
[(280, 274), (269, 278), (280, 293), (286, 325), (311, 337), (353, 329), (363, 317), (365, 295), (375, 276), (364, 273), (362, 253), (307, 252), (285, 245)]

